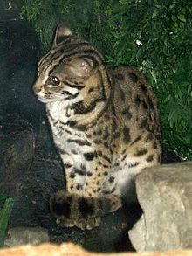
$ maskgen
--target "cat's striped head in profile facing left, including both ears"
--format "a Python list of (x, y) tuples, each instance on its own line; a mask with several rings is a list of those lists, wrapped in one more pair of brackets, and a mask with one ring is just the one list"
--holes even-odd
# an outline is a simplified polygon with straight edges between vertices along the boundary
[(102, 55), (59, 24), (51, 51), (38, 62), (38, 80), (33, 86), (38, 100), (65, 100), (68, 105), (86, 100), (88, 107), (95, 98), (107, 101), (110, 89)]

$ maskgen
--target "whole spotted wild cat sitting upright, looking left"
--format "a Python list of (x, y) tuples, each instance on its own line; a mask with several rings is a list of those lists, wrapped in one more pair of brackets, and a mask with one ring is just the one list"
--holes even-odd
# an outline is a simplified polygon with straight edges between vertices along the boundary
[(160, 163), (157, 100), (132, 66), (108, 70), (88, 42), (58, 25), (33, 86), (45, 103), (66, 188), (50, 198), (58, 225), (92, 229), (134, 201), (134, 178)]

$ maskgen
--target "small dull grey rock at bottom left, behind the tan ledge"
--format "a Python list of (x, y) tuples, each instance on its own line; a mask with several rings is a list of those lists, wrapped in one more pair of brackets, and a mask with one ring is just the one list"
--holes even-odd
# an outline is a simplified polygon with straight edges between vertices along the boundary
[(10, 229), (8, 238), (4, 240), (4, 246), (13, 247), (26, 244), (39, 245), (49, 242), (48, 231), (42, 227), (19, 226)]

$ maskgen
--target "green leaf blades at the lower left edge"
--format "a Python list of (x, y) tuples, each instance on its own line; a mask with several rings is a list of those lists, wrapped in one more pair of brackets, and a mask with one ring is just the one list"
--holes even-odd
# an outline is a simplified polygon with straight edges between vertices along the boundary
[(13, 207), (13, 199), (9, 198), (7, 195), (0, 194), (0, 201), (4, 199), (5, 203), (3, 204), (3, 208), (0, 211), (0, 247), (3, 247), (4, 236), (10, 218), (10, 212), (12, 211)]

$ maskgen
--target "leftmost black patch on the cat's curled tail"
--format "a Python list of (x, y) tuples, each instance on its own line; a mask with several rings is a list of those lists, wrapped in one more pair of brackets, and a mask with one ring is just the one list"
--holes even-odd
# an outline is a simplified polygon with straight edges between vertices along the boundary
[(65, 218), (70, 218), (70, 203), (62, 200), (61, 202), (57, 202), (57, 197), (52, 197), (51, 199), (51, 210), (53, 214), (58, 216), (65, 216)]

